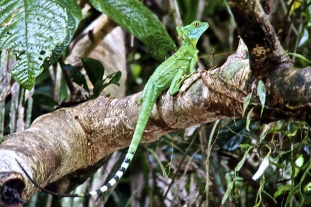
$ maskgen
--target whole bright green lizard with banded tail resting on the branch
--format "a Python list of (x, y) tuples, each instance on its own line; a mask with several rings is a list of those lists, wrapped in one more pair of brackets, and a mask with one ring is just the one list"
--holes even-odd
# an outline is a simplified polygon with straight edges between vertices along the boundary
[[(183, 39), (182, 46), (171, 57), (155, 69), (155, 72), (145, 85), (139, 99), (142, 104), (133, 139), (128, 148), (127, 154), (125, 155), (125, 159), (114, 177), (96, 191), (77, 194), (60, 194), (52, 193), (51, 191), (48, 191), (48, 193), (61, 197), (90, 197), (107, 191), (121, 178), (134, 157), (157, 97), (168, 88), (169, 94), (173, 96), (179, 92), (179, 88), (184, 80), (195, 72), (195, 65), (198, 59), (196, 44), (202, 33), (205, 32), (207, 28), (208, 23), (200, 21), (193, 21), (190, 25), (176, 28), (179, 36)], [(189, 72), (190, 75), (187, 75)], [(38, 186), (36, 185), (36, 187)], [(42, 191), (46, 191), (41, 187), (38, 188)]]

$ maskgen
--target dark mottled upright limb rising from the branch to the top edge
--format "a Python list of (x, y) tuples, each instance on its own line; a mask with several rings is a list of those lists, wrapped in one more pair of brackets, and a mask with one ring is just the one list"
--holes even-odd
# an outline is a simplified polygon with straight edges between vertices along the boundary
[(291, 65), (259, 0), (227, 0), (248, 51), (252, 76), (262, 79), (280, 64)]

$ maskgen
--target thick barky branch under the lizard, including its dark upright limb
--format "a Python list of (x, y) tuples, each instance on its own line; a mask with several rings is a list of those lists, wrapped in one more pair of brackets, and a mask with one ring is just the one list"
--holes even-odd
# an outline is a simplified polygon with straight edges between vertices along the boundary
[[(241, 42), (224, 65), (185, 81), (183, 93), (174, 97), (163, 93), (154, 106), (142, 143), (192, 125), (242, 117), (247, 94), (253, 92), (254, 101), (259, 103), (259, 80), (264, 81), (267, 91), (262, 120), (292, 118), (311, 122), (311, 68), (293, 67), (257, 0), (228, 3), (250, 59)], [(27, 130), (8, 135), (0, 145), (0, 205), (12, 198), (11, 206), (18, 206), (36, 191), (15, 159), (39, 185), (45, 186), (127, 147), (140, 109), (140, 104), (135, 103), (138, 97), (139, 93), (124, 98), (99, 97), (45, 114)], [(253, 111), (253, 120), (260, 120), (260, 108)]]

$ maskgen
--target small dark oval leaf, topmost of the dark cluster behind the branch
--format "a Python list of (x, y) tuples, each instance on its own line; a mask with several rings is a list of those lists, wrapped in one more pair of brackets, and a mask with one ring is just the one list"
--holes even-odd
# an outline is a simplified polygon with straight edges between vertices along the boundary
[(95, 86), (97, 81), (103, 80), (105, 68), (100, 61), (93, 58), (84, 58), (82, 59), (82, 64), (93, 86)]

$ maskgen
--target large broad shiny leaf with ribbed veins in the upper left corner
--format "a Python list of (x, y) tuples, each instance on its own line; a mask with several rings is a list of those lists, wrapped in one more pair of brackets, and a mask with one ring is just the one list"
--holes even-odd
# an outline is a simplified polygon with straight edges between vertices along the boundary
[(16, 55), (10, 73), (20, 85), (30, 90), (51, 57), (64, 52), (81, 18), (76, 6), (74, 0), (0, 1), (0, 48)]

